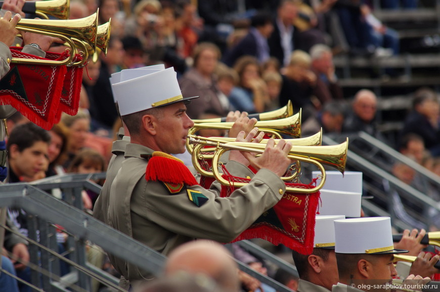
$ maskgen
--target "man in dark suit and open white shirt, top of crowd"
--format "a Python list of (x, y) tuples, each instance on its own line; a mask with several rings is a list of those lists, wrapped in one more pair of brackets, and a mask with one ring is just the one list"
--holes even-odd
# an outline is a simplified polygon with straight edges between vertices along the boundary
[(298, 1), (282, 0), (277, 11), (274, 31), (268, 43), (271, 56), (276, 57), (280, 64), (287, 66), (294, 50), (309, 52), (316, 44), (323, 44), (324, 37), (318, 29), (299, 32), (293, 21), (298, 17)]

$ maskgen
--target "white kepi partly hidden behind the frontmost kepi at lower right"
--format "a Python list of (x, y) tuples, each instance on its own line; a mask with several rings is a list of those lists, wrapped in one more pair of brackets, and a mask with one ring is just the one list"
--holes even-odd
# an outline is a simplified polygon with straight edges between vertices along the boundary
[(335, 225), (333, 221), (345, 219), (345, 216), (321, 216), (315, 217), (315, 241), (314, 247), (334, 248)]

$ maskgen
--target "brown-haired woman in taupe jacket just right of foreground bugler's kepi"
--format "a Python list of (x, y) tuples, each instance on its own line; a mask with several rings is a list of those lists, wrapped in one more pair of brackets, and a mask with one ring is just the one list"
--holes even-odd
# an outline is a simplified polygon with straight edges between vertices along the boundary
[(191, 118), (207, 110), (226, 116), (229, 111), (228, 97), (217, 87), (214, 75), (220, 58), (220, 50), (212, 43), (200, 43), (194, 49), (194, 65), (179, 79), (183, 96), (200, 96), (188, 105), (187, 113)]

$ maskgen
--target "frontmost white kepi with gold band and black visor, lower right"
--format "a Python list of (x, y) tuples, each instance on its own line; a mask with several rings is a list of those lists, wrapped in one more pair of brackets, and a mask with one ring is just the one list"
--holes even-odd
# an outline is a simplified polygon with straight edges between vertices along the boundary
[(340, 254), (399, 254), (394, 249), (389, 217), (335, 220), (335, 252)]

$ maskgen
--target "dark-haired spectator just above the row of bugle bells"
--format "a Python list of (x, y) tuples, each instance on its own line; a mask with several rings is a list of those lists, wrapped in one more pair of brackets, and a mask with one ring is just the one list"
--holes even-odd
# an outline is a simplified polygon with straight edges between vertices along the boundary
[(336, 133), (342, 131), (344, 122), (344, 104), (336, 101), (326, 103), (322, 110), (307, 118), (301, 124), (301, 135), (303, 137), (318, 133), (321, 129), (324, 134)]

